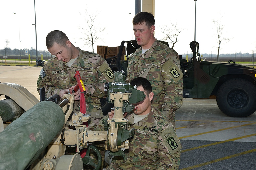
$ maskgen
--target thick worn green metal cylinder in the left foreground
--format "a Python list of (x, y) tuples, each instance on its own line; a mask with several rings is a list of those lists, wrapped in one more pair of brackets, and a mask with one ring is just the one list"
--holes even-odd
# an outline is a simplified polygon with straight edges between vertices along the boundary
[(41, 101), (0, 133), (0, 169), (27, 169), (60, 132), (63, 110)]

